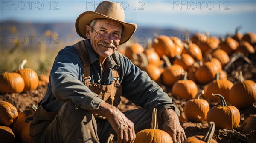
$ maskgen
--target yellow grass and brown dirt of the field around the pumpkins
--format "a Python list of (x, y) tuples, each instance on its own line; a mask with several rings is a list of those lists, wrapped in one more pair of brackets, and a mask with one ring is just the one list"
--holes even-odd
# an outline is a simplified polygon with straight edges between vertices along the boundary
[[(72, 41), (73, 42), (73, 41)], [(71, 43), (71, 42), (70, 42)], [(32, 69), (37, 69), (36, 72), (38, 76), (43, 74), (48, 75), (51, 69), (51, 65), (53, 60), (57, 54), (57, 52), (64, 48), (64, 45), (68, 45), (69, 43), (61, 43), (58, 44), (57, 47), (49, 47), (49, 45), (37, 44), (33, 45), (33, 48), (29, 50), (20, 46), (19, 43), (11, 43), (9, 44), (9, 49), (1, 49), (1, 73), (3, 72), (11, 72), (17, 69), (18, 63), (26, 58), (28, 60), (26, 67), (30, 67)], [(29, 45), (28, 45), (29, 46)], [(255, 49), (255, 46), (254, 46)], [(121, 51), (121, 47), (120, 47)], [(6, 56), (7, 55), (7, 56)], [(20, 56), (22, 55), (22, 56)], [(232, 57), (232, 55), (230, 55)], [(242, 71), (245, 80), (253, 80), (256, 82), (256, 54), (250, 53), (246, 55), (247, 60), (237, 59), (230, 63), (230, 65), (225, 67), (225, 72), (227, 74), (227, 80), (232, 83), (236, 83), (238, 81), (239, 72)], [(171, 63), (173, 63), (173, 58), (171, 59)], [(132, 59), (134, 60), (134, 59)], [(250, 63), (248, 63), (248, 60)], [(136, 61), (134, 61), (136, 63)], [(140, 62), (139, 62), (140, 63)], [(142, 65), (137, 65), (142, 66)], [(144, 65), (145, 66), (145, 65)], [(224, 69), (224, 68), (223, 68)], [(166, 92), (170, 98), (172, 98), (173, 102), (180, 109), (180, 123), (183, 129), (185, 130), (186, 137), (191, 137), (194, 135), (204, 135), (209, 129), (209, 125), (207, 121), (203, 122), (191, 122), (189, 121), (184, 114), (184, 106), (187, 100), (181, 99), (180, 97), (173, 96), (172, 86), (166, 85), (163, 82), (163, 77), (161, 76), (157, 83), (160, 87)], [(198, 91), (204, 90), (207, 84), (197, 83)], [(0, 101), (8, 101), (12, 103), (18, 110), (18, 112), (23, 112), (28, 109), (31, 103), (37, 105), (38, 102), (44, 97), (44, 94), (47, 89), (47, 84), (39, 85), (37, 89), (31, 91), (25, 91), (21, 93), (0, 93)], [(219, 105), (220, 102), (210, 102), (210, 107)], [(228, 103), (230, 104), (230, 103)], [(121, 111), (131, 110), (139, 108), (129, 102), (125, 97), (122, 97), (121, 104), (118, 106)], [(236, 129), (227, 130), (227, 129), (215, 129), (215, 133), (213, 139), (217, 140), (218, 143), (253, 143), (256, 139), (256, 130), (255, 126), (250, 133), (244, 133), (242, 124), (244, 120), (246, 120), (250, 115), (256, 114), (256, 105), (250, 105), (243, 109), (239, 110), (240, 112), (240, 123)], [(221, 118), (221, 117), (220, 117)], [(255, 122), (254, 122), (255, 123)], [(12, 126), (11, 126), (12, 128)], [(16, 138), (16, 143), (21, 143), (21, 140)]]

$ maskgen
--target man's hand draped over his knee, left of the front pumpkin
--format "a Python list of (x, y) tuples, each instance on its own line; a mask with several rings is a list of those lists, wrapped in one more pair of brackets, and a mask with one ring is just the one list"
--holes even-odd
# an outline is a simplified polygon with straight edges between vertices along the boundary
[(117, 133), (117, 143), (133, 143), (136, 134), (134, 123), (131, 122), (119, 109), (108, 103), (100, 103), (97, 111), (93, 112), (106, 117), (114, 131)]

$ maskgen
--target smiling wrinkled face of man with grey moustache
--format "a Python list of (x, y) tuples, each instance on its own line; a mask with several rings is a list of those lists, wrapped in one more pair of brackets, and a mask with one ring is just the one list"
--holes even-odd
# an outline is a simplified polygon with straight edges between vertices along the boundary
[(119, 45), (122, 25), (113, 20), (103, 19), (96, 21), (93, 31), (90, 26), (86, 26), (87, 39), (90, 39), (93, 50), (100, 57), (108, 57), (116, 51)]

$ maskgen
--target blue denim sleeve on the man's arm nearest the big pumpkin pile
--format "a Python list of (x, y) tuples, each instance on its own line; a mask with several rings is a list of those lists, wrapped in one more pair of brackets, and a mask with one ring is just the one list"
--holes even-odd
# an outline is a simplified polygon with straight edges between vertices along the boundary
[(163, 92), (163, 89), (151, 80), (146, 72), (134, 66), (131, 60), (126, 57), (123, 60), (123, 70), (123, 96), (137, 106), (150, 109), (151, 112), (157, 108), (158, 117), (161, 119), (165, 109), (173, 109), (180, 116), (180, 111), (172, 102), (172, 98)]

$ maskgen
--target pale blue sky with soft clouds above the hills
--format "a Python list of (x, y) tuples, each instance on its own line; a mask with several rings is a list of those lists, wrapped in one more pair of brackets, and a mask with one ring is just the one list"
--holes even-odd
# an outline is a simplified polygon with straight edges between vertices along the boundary
[[(0, 21), (71, 22), (94, 11), (98, 0), (1, 0)], [(115, 0), (125, 9), (125, 21), (138, 27), (191, 29), (210, 33), (256, 33), (256, 0)]]

